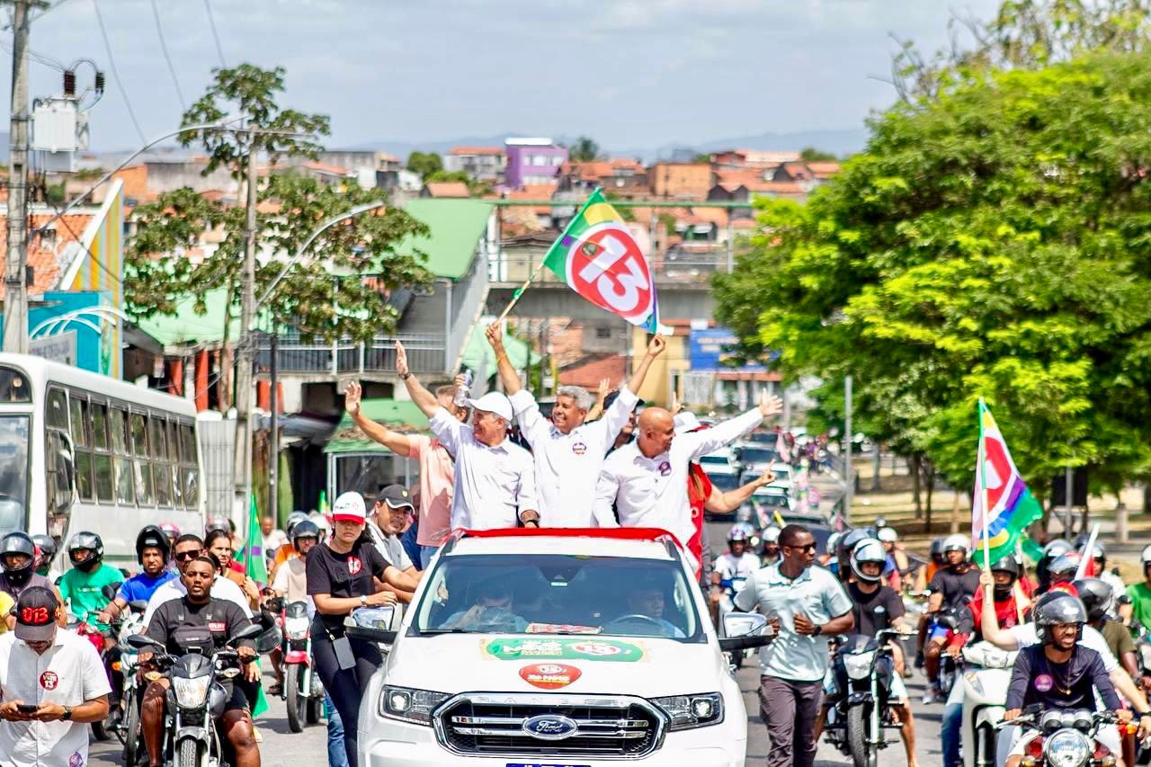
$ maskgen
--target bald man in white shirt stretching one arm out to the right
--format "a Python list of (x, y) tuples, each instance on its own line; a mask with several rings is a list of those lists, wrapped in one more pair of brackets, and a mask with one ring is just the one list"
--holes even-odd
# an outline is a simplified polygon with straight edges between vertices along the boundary
[[(603, 463), (595, 493), (596, 522), (603, 527), (662, 527), (686, 547), (695, 532), (687, 500), (688, 464), (782, 411), (783, 401), (764, 394), (757, 408), (741, 416), (677, 436), (671, 413), (648, 408), (640, 416), (639, 438)], [(618, 523), (612, 503), (619, 510)]]

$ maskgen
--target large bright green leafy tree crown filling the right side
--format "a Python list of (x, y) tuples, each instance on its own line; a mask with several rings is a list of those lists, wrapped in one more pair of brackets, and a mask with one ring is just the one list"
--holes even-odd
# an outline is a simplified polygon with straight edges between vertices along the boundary
[(869, 434), (974, 476), (988, 400), (1038, 495), (1067, 464), (1151, 474), (1151, 55), (994, 73), (902, 102), (716, 279), (749, 354), (829, 387)]

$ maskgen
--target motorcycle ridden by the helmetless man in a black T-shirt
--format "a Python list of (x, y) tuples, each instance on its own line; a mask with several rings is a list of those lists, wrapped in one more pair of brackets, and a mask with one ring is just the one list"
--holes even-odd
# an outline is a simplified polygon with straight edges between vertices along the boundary
[(171, 679), (163, 720), (165, 765), (226, 767), (229, 764), (214, 726), (223, 715), (227, 703), (222, 683), (241, 675), (236, 643), (251, 639), (260, 631), (258, 624), (245, 626), (216, 650), (212, 646), (208, 631), (189, 630), (183, 637), (177, 637), (183, 651), (180, 656), (168, 654), (161, 643), (145, 633), (128, 638), (128, 644), (137, 651), (153, 651), (154, 662)]

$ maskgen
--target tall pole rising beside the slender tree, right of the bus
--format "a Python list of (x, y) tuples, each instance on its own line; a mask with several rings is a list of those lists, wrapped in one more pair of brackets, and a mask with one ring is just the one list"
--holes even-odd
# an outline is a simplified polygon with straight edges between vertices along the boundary
[[(233, 480), (236, 487), (234, 516), (246, 514), (247, 494), (252, 486), (252, 313), (256, 307), (256, 157), (257, 132), (249, 132), (247, 203), (244, 223), (244, 273), (241, 278), (239, 343), (236, 345), (236, 462)], [(236, 525), (246, 517), (235, 519)], [(244, 529), (244, 527), (242, 527)]]

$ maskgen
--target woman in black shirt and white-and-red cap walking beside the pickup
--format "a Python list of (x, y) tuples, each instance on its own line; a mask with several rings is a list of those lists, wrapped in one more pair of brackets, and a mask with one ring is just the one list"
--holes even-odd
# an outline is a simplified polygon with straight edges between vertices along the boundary
[(389, 564), (364, 530), (364, 499), (344, 493), (331, 510), (334, 534), (307, 555), (307, 593), (315, 602), (312, 655), (344, 724), (348, 764), (355, 765), (360, 701), (383, 658), (375, 644), (346, 637), (344, 618), (359, 607), (395, 605), (396, 595), (375, 591), (373, 577), (383, 580)]

